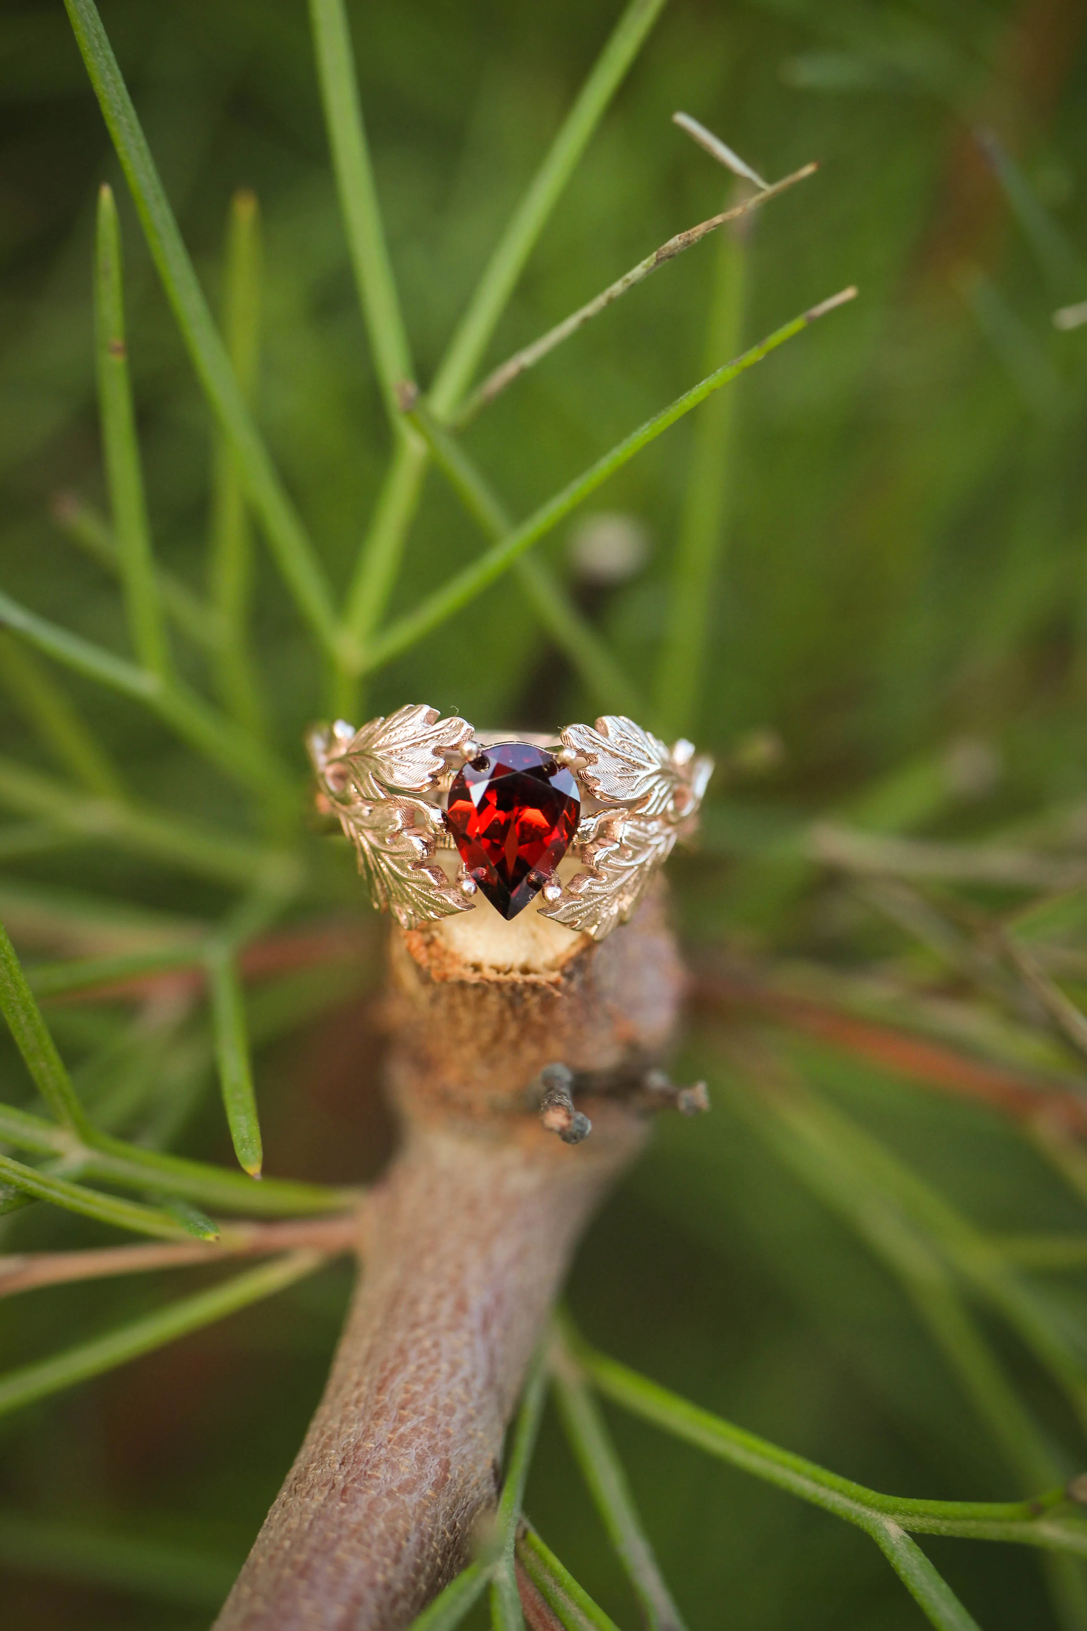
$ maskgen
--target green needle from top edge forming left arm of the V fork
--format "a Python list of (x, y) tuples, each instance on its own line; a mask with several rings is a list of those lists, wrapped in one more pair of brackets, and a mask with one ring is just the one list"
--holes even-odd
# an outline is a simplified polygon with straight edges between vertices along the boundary
[(396, 426), (396, 385), (412, 375), (411, 347), (385, 241), (342, 0), (310, 0), (310, 23), (350, 264), (381, 393)]

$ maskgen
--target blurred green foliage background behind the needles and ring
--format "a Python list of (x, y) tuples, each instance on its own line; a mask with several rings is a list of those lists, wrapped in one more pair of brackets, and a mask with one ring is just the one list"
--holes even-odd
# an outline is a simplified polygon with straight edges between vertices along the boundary
[[(393, 263), (425, 382), (616, 7), (372, 0), (350, 10)], [(259, 419), (332, 579), (345, 586), (389, 435), (336, 206), (305, 5), (104, 0), (101, 11), (213, 302), (230, 197), (248, 186), (261, 201)], [(742, 246), (711, 240), (662, 269), (468, 434), (510, 509), (528, 514), (706, 372), (722, 256), (732, 256), (733, 276), (743, 263), (745, 344), (859, 285), (856, 303), (727, 387), (735, 426), (720, 455), (709, 661), (698, 706), (680, 721), (725, 773), (704, 856), (675, 866), (676, 913), (704, 983), (706, 970), (743, 959), (745, 969), (807, 969), (813, 990), (818, 964), (825, 980), (841, 982), (833, 988), (844, 1001), (843, 992), (857, 997), (862, 979), (878, 975), (872, 1001), (922, 990), (934, 1029), (986, 1057), (1015, 1055), (1074, 1091), (1082, 1065), (1041, 1034), (1036, 1014), (1019, 1016), (1014, 1039), (997, 1034), (1007, 993), (994, 997), (962, 966), (948, 977), (947, 948), (909, 938), (901, 899), (896, 915), (895, 902), (888, 908), (849, 876), (820, 869), (803, 835), (831, 812), (922, 838), (1041, 833), (1043, 850), (1072, 858), (1087, 842), (1087, 325), (1053, 321), (1058, 308), (1087, 300), (1085, 33), (1076, 0), (671, 0), (556, 209), (491, 360), (732, 196), (724, 171), (671, 126), (676, 108), (769, 179), (810, 158), (820, 175), (761, 210)], [(209, 416), (60, 0), (7, 0), (3, 589), (124, 651), (116, 586), (54, 519), (59, 493), (104, 507), (91, 315), (103, 179), (122, 219), (156, 551), (200, 589)], [(698, 422), (694, 414), (670, 431), (593, 501), (595, 514), (624, 517), (647, 541), (627, 577), (588, 581), (585, 512), (541, 551), (647, 692)], [(393, 610), (479, 548), (432, 473)], [(301, 775), (301, 731), (326, 705), (324, 680), (264, 563), (256, 625), (275, 729)], [(202, 683), (199, 652), (186, 648), (184, 662)], [(240, 796), (161, 726), (86, 682), (65, 685), (139, 796), (241, 829)], [(367, 713), (422, 698), (481, 727), (600, 711), (513, 576), (375, 675)], [(24, 711), (2, 705), (3, 752), (51, 768)], [(10, 802), (2, 788), (0, 799)], [(321, 884), (310, 913), (347, 912), (354, 931), (362, 902), (350, 861), (316, 840), (313, 848)], [(78, 949), (73, 900), (88, 892), (184, 913), (218, 910), (225, 899), (117, 845), (81, 843), (8, 860), (0, 915), (29, 956)], [(932, 913), (970, 926), (1002, 918), (1020, 899), (966, 886)], [(1082, 926), (1080, 913), (1066, 966), (1072, 995), (1084, 979)], [(357, 946), (334, 979), (310, 972), (253, 998), (254, 1034), (266, 1039), (259, 1091), (272, 1173), (357, 1181), (388, 1153), (380, 1034), (365, 1006), (380, 979), (376, 920), (362, 922)], [(65, 1057), (98, 1062), (86, 1091), (101, 1094), (130, 1011), (54, 1005), (51, 1019)], [(179, 1148), (230, 1160), (202, 1019), (184, 1010), (143, 1021), (153, 1045), (125, 1063), (132, 1106), (176, 1127)], [(857, 1202), (864, 1215), (849, 1217), (857, 1192), (847, 1182), (831, 1178), (830, 1194), (818, 1194), (802, 1161), (782, 1160), (768, 1134), (772, 1116), (751, 1109), (745, 1083), (758, 1062), (737, 1055), (732, 1021), (709, 1000), (698, 1006), (676, 1072), (707, 1076), (714, 1111), (662, 1124), (583, 1246), (572, 1306), (587, 1333), (707, 1408), (878, 1489), (1023, 1492), (1022, 1465), (932, 1341), (918, 1297), (872, 1249), (874, 1213)], [(864, 1122), (978, 1228), (1084, 1233), (1082, 1199), (1004, 1120), (810, 1039), (755, 1031), (753, 1045), (772, 1049), (776, 1068)], [(132, 1085), (137, 1067), (143, 1086)], [(5, 1098), (21, 1096), (13, 1052), (3, 1072)], [(41, 1207), (0, 1228), (5, 1251), (99, 1238)], [(7, 1364), (46, 1354), (171, 1288), (119, 1280), (3, 1303), (0, 1354)], [(347, 1272), (329, 1269), (5, 1419), (5, 1631), (207, 1624), (300, 1442), (345, 1295)], [(1082, 1269), (1046, 1277), (1038, 1295), (1087, 1364)], [(1079, 1470), (1087, 1450), (1071, 1411), (1022, 1344), (989, 1311), (978, 1318), (1056, 1461)], [(857, 1532), (640, 1424), (616, 1417), (614, 1427), (694, 1626), (921, 1624)], [(554, 1422), (528, 1510), (585, 1587), (623, 1624), (636, 1623)], [(1027, 1548), (927, 1549), (986, 1631), (1084, 1623), (1071, 1608), (1058, 1618)]]

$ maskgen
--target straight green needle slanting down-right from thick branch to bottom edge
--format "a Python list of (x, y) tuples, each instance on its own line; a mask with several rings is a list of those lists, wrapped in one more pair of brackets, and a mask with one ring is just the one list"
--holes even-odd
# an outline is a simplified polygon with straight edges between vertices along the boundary
[(626, 1481), (611, 1434), (582, 1372), (556, 1324), (551, 1347), (551, 1381), (570, 1448), (603, 1518), (611, 1545), (645, 1611), (649, 1631), (683, 1631), (683, 1618), (657, 1566)]

